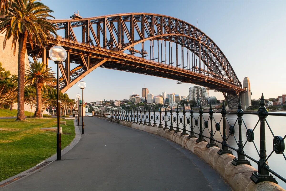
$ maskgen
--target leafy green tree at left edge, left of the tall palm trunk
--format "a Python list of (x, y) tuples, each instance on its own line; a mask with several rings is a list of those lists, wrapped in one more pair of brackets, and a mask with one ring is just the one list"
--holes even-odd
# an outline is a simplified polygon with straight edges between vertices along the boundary
[[(16, 76), (11, 76), (10, 71), (2, 68), (0, 62), (0, 105), (13, 105), (17, 98), (17, 83), (15, 84)], [(12, 109), (12, 107), (10, 108)]]

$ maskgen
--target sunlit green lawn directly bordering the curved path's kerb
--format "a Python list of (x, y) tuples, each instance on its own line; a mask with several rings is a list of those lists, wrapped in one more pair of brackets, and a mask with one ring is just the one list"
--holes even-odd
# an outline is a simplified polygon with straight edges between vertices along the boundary
[[(15, 121), (0, 119), (0, 181), (19, 174), (56, 153), (56, 132), (41, 130), (57, 127), (54, 119)], [(75, 137), (73, 120), (61, 125), (61, 149)]]

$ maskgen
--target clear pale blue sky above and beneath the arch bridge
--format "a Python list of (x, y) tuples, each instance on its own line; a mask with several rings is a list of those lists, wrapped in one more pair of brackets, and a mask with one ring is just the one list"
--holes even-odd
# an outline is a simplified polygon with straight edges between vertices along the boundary
[[(79, 10), (82, 17), (114, 13), (145, 12), (176, 17), (196, 26), (221, 48), (240, 81), (251, 83), (252, 98), (286, 94), (286, 1), (85, 1), (43, 0), (56, 19), (69, 18)], [(50, 63), (50, 66), (53, 64)], [(193, 84), (175, 80), (97, 68), (85, 78), (84, 101), (129, 99), (142, 88), (154, 95), (176, 93), (187, 96)], [(78, 85), (67, 90), (75, 99)], [(224, 99), (221, 92), (210, 96)]]

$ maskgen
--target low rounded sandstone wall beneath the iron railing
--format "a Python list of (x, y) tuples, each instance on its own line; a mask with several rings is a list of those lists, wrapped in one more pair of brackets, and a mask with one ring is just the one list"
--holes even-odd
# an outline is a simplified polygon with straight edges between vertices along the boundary
[(197, 138), (188, 139), (188, 135), (181, 136), (181, 133), (174, 133), (174, 131), (168, 131), (168, 129), (158, 129), (158, 127), (136, 124), (127, 121), (120, 121), (117, 119), (109, 119), (103, 117), (98, 118), (105, 119), (113, 123), (119, 123), (120, 125), (132, 127), (134, 129), (139, 129), (142, 131), (160, 135), (178, 143), (182, 147), (185, 147), (186, 149), (192, 151), (193, 153), (201, 157), (204, 161), (206, 161), (225, 179), (229, 186), (231, 186), (231, 188), (235, 191), (286, 191), (281, 186), (273, 182), (265, 181), (255, 184), (250, 179), (252, 173), (257, 171), (255, 168), (246, 164), (234, 166), (233, 164), (231, 164), (232, 160), (235, 158), (234, 155), (219, 155), (217, 154), (219, 150), (218, 147), (207, 148), (207, 142), (197, 143)]

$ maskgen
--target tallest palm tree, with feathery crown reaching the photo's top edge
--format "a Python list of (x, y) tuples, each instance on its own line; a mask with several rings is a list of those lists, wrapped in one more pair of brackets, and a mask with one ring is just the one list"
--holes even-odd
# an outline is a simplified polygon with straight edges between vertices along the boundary
[[(1, 0), (2, 1), (2, 0)], [(3, 5), (2, 5), (3, 6)], [(7, 14), (0, 18), (0, 33), (5, 33), (4, 43), (12, 37), (14, 54), (18, 46), (18, 113), (17, 120), (25, 120), (24, 115), (24, 86), (25, 86), (25, 53), (29, 42), (43, 46), (47, 44), (50, 33), (56, 34), (55, 25), (49, 22), (49, 15), (53, 12), (43, 3), (36, 0), (14, 0), (8, 8)]]

